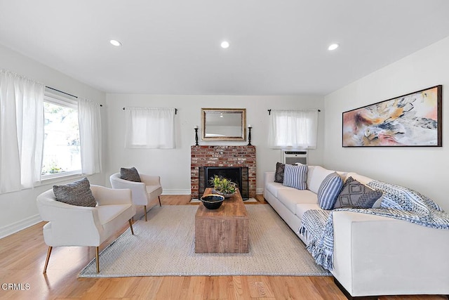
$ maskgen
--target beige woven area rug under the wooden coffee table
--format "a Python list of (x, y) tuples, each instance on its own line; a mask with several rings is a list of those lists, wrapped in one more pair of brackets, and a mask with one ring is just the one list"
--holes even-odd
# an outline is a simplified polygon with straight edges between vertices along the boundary
[(168, 275), (330, 275), (317, 266), (299, 237), (267, 204), (246, 205), (250, 218), (248, 254), (196, 254), (195, 205), (154, 207), (148, 221), (133, 224), (100, 253), (79, 278)]

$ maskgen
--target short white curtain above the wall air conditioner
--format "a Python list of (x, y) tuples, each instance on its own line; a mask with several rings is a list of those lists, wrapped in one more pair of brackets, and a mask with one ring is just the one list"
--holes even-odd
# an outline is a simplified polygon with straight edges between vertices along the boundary
[(318, 110), (272, 110), (269, 145), (272, 148), (315, 149)]

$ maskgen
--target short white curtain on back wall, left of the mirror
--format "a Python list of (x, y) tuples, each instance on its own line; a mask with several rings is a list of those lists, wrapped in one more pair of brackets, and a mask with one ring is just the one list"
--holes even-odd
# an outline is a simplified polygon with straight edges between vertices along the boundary
[(175, 148), (175, 108), (126, 107), (126, 148)]

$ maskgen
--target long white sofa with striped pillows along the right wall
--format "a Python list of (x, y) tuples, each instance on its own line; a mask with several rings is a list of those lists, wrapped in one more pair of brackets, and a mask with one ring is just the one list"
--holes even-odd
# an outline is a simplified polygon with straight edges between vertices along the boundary
[[(264, 198), (299, 233), (302, 215), (321, 209), (317, 200), (323, 179), (334, 171), (309, 166), (307, 190), (274, 182), (264, 174)], [(367, 184), (373, 179), (337, 171)], [(428, 228), (385, 216), (353, 211), (333, 213), (335, 282), (348, 298), (400, 294), (449, 294), (449, 230)]]

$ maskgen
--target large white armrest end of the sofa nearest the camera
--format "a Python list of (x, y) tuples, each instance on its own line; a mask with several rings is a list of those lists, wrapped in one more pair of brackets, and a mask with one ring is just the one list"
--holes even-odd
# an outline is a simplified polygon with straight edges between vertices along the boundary
[(335, 278), (351, 296), (449, 294), (449, 230), (335, 211)]

